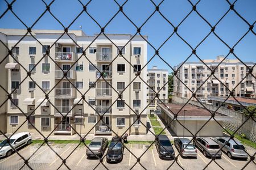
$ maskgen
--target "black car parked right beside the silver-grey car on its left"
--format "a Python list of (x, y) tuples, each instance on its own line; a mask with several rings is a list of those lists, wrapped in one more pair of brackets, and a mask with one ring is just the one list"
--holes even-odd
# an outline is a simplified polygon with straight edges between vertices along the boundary
[(121, 162), (123, 159), (123, 140), (118, 137), (113, 137), (110, 142), (108, 152), (106, 154), (107, 162)]

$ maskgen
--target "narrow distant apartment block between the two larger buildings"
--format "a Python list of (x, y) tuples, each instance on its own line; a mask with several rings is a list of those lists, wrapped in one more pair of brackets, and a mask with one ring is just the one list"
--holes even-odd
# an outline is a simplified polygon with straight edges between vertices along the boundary
[[(156, 108), (158, 108), (157, 103), (160, 102), (159, 99), (163, 103), (168, 103), (168, 84), (166, 84), (167, 82), (168, 82), (168, 70), (158, 69), (157, 66), (153, 66), (152, 69), (147, 70), (147, 83), (148, 83), (148, 86), (150, 86), (150, 87), (147, 87), (147, 104), (149, 104), (150, 101), (153, 100), (152, 103), (150, 103), (147, 107), (148, 113), (152, 113), (156, 110)], [(156, 95), (154, 91), (155, 92), (159, 91), (158, 92), (159, 99), (158, 98), (154, 99)]]

